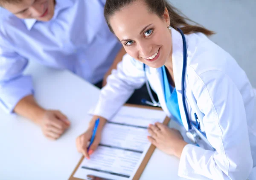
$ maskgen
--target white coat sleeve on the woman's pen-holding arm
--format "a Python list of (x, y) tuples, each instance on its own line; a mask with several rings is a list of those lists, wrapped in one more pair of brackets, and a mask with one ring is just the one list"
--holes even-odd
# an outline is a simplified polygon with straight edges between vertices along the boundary
[(122, 61), (112, 70), (107, 84), (102, 88), (94, 114), (106, 119), (111, 117), (120, 107), (145, 83), (143, 63), (125, 54)]

